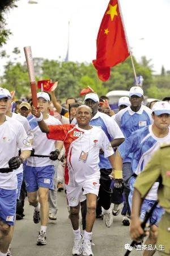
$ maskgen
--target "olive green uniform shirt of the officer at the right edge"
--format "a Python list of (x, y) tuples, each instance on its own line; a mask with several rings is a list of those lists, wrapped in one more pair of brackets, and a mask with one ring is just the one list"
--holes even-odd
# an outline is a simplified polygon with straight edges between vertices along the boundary
[(158, 189), (159, 205), (170, 213), (170, 144), (160, 147), (145, 169), (138, 175), (134, 187), (145, 197), (152, 185), (162, 176), (162, 186)]

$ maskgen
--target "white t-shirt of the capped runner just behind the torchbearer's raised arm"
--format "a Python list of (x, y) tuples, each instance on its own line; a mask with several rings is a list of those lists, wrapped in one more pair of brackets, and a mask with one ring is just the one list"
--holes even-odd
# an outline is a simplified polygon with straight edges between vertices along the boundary
[[(61, 122), (49, 115), (47, 119), (44, 120), (47, 125), (61, 125)], [(35, 149), (35, 155), (50, 155), (50, 152), (56, 150), (55, 142), (52, 139), (46, 138), (46, 133), (42, 133), (37, 123), (37, 126), (32, 129), (34, 138), (32, 148)], [(50, 160), (48, 157), (46, 158), (37, 158), (35, 156), (31, 156), (27, 159), (27, 166), (32, 167), (43, 167), (54, 165), (54, 161)]]

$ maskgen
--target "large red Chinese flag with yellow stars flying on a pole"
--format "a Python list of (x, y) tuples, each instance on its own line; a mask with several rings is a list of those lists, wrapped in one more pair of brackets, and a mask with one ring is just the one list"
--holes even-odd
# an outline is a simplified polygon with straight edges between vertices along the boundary
[(111, 67), (129, 56), (128, 42), (121, 18), (118, 0), (111, 0), (101, 21), (97, 35), (97, 56), (93, 64), (99, 79), (107, 81)]

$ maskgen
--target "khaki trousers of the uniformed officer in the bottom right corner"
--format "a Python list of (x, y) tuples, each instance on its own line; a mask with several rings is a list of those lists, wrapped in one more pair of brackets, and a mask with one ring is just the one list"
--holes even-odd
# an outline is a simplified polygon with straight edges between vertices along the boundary
[[(159, 222), (158, 240), (156, 245), (160, 255), (170, 255), (170, 213), (165, 212), (162, 220)], [(162, 246), (164, 246), (163, 251), (160, 250)]]

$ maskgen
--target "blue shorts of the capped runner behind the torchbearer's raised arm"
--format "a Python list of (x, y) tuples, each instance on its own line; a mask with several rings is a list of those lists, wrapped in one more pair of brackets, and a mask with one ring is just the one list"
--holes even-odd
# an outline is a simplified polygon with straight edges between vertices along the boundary
[(54, 166), (25, 166), (24, 181), (27, 192), (35, 192), (40, 187), (54, 189)]

